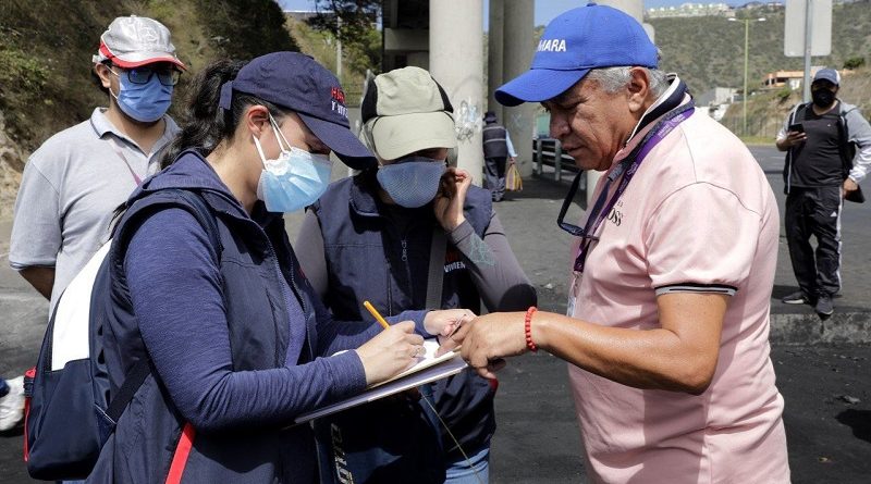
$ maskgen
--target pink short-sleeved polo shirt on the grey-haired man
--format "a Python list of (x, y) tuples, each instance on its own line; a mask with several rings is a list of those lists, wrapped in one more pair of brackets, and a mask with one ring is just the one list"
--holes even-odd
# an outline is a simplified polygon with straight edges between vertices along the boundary
[[(731, 300), (716, 372), (702, 395), (631, 388), (569, 365), (590, 476), (788, 483), (783, 397), (768, 342), (780, 219), (759, 164), (697, 112), (648, 154), (611, 215), (582, 277), (573, 276), (572, 315), (647, 330), (660, 325), (658, 295), (714, 291)], [(573, 262), (575, 255), (577, 243)]]

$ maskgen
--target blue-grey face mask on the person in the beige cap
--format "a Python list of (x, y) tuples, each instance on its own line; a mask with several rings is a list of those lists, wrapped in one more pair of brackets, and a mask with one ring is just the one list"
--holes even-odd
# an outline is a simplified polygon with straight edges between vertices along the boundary
[(378, 183), (398, 206), (424, 207), (436, 198), (444, 175), (444, 162), (414, 158), (378, 169)]

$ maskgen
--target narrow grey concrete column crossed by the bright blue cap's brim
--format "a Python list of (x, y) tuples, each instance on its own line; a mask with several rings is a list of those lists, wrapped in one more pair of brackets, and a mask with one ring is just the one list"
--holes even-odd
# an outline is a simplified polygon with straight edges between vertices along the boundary
[[(532, 64), (535, 7), (535, 0), (511, 0), (504, 9), (502, 55), (504, 79), (519, 76)], [(490, 25), (492, 28), (492, 24)], [(517, 169), (522, 176), (532, 174), (532, 134), (538, 104), (535, 102), (525, 102), (516, 108), (502, 108), (500, 121), (511, 133), (511, 140), (517, 150)]]

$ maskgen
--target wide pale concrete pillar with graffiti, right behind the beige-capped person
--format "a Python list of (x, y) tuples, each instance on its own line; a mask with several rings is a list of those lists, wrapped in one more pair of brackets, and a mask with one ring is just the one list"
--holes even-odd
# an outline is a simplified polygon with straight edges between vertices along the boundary
[[(531, 23), (531, 15), (529, 17)], [(531, 44), (531, 35), (527, 37)], [(429, 4), (429, 71), (447, 91), (457, 125), (458, 166), (481, 185), (483, 150), (483, 0), (438, 0)], [(527, 63), (528, 66), (528, 63)]]

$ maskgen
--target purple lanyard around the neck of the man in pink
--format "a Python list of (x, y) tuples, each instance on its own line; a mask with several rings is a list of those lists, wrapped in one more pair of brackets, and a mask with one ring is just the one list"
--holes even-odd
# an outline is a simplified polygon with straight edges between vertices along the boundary
[[(626, 160), (622, 161), (617, 167), (614, 169), (609, 175), (605, 182), (605, 186), (602, 187), (602, 193), (599, 196), (599, 199), (593, 204), (592, 212), (590, 212), (590, 218), (587, 220), (585, 224), (585, 234), (588, 234), (587, 237), (584, 238), (581, 241), (578, 257), (575, 259), (575, 270), (576, 271), (584, 271), (584, 261), (587, 259), (587, 252), (589, 250), (589, 246), (592, 240), (598, 239), (598, 237), (592, 236), (599, 229), (599, 226), (604, 222), (608, 218), (611, 210), (619, 200), (619, 197), (623, 196), (623, 193), (626, 191), (626, 187), (629, 186), (629, 182), (633, 181), (636, 172), (638, 172), (638, 167), (645, 161), (645, 158), (650, 153), (653, 148), (660, 144), (678, 124), (686, 121), (689, 116), (692, 115), (695, 110), (692, 109), (692, 104), (688, 104), (688, 108), (676, 114), (674, 117), (668, 120), (664, 120), (660, 123), (660, 125), (655, 128), (653, 133), (647, 136), (647, 139), (643, 141), (643, 145), (638, 150), (638, 153), (633, 158), (631, 154)], [(631, 160), (629, 162), (629, 160)], [(628, 165), (626, 164), (628, 162)], [(625, 174), (623, 172), (626, 172)], [(623, 178), (621, 179), (617, 189), (614, 191), (614, 195), (610, 198), (608, 197), (608, 191), (610, 190), (611, 183), (617, 179), (617, 177), (623, 174)], [(605, 202), (605, 200), (608, 200)], [(604, 204), (604, 207), (602, 207)], [(590, 222), (592, 221), (592, 224)]]

